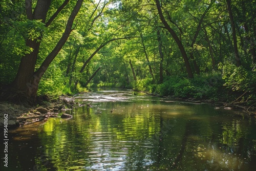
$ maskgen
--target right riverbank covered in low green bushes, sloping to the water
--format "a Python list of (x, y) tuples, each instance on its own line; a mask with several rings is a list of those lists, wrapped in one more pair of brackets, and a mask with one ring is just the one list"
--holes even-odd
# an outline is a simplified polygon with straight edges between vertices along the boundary
[(217, 108), (242, 110), (247, 114), (256, 114), (255, 84), (252, 82), (233, 81), (222, 74), (200, 75), (194, 79), (181, 76), (166, 78), (157, 84), (152, 78), (138, 80), (135, 91), (174, 99), (193, 100), (212, 103)]

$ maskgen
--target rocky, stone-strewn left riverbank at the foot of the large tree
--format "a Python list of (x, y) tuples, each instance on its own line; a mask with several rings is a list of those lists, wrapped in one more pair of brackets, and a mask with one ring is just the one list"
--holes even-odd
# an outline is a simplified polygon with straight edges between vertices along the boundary
[(58, 100), (47, 101), (40, 106), (25, 107), (9, 102), (0, 103), (0, 129), (8, 123), (8, 127), (31, 124), (49, 117), (57, 117), (60, 112), (72, 109), (75, 100), (72, 97), (60, 96)]

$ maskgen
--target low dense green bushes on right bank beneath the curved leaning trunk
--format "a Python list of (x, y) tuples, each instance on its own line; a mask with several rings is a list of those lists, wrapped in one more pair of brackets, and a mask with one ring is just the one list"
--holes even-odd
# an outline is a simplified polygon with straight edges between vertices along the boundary
[(159, 84), (156, 93), (175, 98), (197, 98), (219, 100), (223, 80), (218, 74), (197, 76), (194, 79), (169, 77)]

